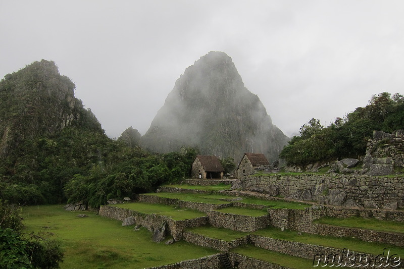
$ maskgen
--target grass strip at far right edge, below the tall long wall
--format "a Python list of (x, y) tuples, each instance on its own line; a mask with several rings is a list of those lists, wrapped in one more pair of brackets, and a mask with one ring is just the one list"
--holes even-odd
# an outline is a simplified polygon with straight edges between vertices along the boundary
[(382, 232), (404, 233), (404, 223), (393, 221), (382, 221), (376, 219), (364, 219), (358, 217), (350, 218), (321, 218), (314, 223), (329, 224), (344, 227), (355, 227)]

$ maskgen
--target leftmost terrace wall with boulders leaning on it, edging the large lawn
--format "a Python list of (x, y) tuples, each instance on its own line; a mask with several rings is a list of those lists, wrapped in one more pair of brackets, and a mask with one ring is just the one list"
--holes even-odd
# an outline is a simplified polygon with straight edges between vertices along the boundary
[(174, 240), (182, 238), (182, 232), (188, 227), (204, 226), (208, 224), (207, 217), (200, 217), (192, 220), (174, 221), (167, 216), (158, 214), (145, 214), (134, 210), (120, 208), (116, 206), (104, 205), (99, 208), (99, 215), (112, 218), (119, 221), (124, 221), (128, 217), (134, 217), (135, 223), (145, 227), (149, 231), (155, 231), (164, 224), (168, 225), (170, 234)]

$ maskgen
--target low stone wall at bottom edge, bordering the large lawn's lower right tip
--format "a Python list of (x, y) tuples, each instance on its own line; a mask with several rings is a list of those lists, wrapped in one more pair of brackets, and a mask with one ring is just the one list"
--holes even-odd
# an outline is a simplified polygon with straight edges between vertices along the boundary
[[(174, 253), (173, 253), (174, 254)], [(214, 254), (210, 256), (201, 257), (198, 259), (184, 260), (173, 264), (167, 264), (157, 267), (148, 267), (145, 269), (221, 269), (223, 263), (220, 260), (220, 254)]]

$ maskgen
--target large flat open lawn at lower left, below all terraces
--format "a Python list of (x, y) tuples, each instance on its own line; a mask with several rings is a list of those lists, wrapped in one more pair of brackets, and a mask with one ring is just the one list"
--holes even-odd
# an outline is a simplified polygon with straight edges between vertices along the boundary
[[(79, 213), (89, 217), (78, 218)], [(133, 231), (133, 226), (122, 227), (120, 221), (93, 212), (66, 211), (63, 205), (24, 207), (22, 217), (24, 232), (51, 232), (61, 242), (62, 269), (144, 268), (217, 253), (183, 241), (154, 243), (144, 228)]]

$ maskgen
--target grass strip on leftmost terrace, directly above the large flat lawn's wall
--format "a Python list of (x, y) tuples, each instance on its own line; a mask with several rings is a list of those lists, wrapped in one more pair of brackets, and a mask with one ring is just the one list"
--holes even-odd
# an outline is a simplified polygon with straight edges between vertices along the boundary
[(164, 205), (164, 204), (134, 202), (134, 203), (114, 204), (114, 206), (127, 208), (138, 212), (143, 212), (146, 214), (154, 213), (162, 216), (168, 216), (176, 221), (189, 220), (206, 216), (205, 213), (197, 210), (189, 208), (176, 208), (173, 205)]

